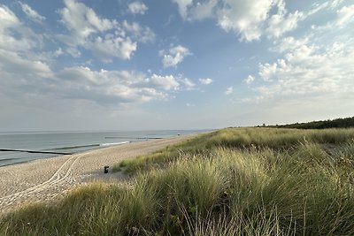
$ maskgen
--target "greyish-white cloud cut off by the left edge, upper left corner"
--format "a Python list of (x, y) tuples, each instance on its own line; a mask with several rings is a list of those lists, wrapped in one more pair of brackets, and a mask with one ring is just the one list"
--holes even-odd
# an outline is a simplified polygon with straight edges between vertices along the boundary
[(42, 35), (0, 4), (0, 88), (4, 94), (16, 91), (16, 87), (35, 88), (38, 81), (45, 84), (53, 78), (48, 62), (34, 53), (41, 45)]

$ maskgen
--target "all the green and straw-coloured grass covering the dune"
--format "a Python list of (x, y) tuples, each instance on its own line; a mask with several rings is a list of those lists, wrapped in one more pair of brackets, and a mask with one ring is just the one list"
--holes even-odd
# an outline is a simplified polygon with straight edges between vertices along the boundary
[[(119, 167), (120, 166), (120, 167)], [(4, 216), (4, 235), (353, 235), (354, 129), (230, 128)]]

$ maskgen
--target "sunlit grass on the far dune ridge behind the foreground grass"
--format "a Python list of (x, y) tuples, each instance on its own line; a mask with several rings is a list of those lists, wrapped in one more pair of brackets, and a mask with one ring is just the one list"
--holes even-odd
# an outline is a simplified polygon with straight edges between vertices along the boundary
[(183, 153), (207, 154), (212, 148), (291, 150), (306, 142), (322, 145), (338, 145), (354, 139), (354, 128), (327, 130), (294, 130), (277, 128), (227, 128), (213, 133), (205, 133), (189, 141), (167, 147), (148, 156), (138, 156), (125, 160), (113, 167), (122, 168), (127, 174), (148, 171), (157, 166), (169, 164)]

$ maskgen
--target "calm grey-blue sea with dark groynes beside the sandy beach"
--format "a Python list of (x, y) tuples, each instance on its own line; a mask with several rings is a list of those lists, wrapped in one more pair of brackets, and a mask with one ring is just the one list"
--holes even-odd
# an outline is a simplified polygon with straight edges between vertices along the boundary
[(207, 131), (209, 130), (0, 132), (0, 167), (53, 156), (80, 153), (96, 148), (124, 145), (129, 142), (148, 141)]

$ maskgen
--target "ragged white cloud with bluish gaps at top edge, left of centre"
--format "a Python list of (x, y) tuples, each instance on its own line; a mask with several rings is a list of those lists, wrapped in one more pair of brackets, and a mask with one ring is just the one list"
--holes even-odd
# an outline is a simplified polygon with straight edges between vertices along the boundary
[(73, 57), (80, 57), (80, 49), (84, 48), (106, 62), (112, 57), (130, 59), (137, 49), (137, 42), (152, 42), (155, 38), (149, 27), (127, 21), (119, 24), (115, 19), (102, 18), (76, 0), (65, 0), (64, 3), (65, 8), (58, 12), (70, 34), (60, 34), (58, 38), (65, 42), (66, 51)]

